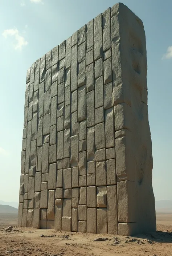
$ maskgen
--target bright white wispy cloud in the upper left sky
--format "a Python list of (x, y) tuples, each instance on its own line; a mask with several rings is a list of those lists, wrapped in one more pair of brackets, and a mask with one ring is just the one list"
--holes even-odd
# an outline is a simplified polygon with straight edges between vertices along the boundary
[(19, 34), (19, 31), (17, 28), (6, 29), (6, 30), (4, 30), (2, 35), (6, 39), (9, 36), (11, 36), (15, 39), (15, 43), (13, 44), (15, 50), (21, 50), (23, 46), (26, 46), (28, 44), (28, 42), (25, 40), (25, 38)]

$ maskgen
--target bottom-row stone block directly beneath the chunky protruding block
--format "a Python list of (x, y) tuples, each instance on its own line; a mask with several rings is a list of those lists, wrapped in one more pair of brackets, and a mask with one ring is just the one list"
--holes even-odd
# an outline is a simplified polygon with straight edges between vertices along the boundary
[(107, 209), (97, 209), (97, 233), (107, 233)]

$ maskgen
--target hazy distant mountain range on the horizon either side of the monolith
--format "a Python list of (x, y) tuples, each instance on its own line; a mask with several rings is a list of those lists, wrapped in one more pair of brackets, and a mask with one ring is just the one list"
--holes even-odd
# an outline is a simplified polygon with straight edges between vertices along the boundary
[[(17, 202), (4, 202), (0, 201), (0, 212), (12, 213), (18, 211)], [(159, 200), (155, 201), (156, 212), (172, 213), (172, 200)]]

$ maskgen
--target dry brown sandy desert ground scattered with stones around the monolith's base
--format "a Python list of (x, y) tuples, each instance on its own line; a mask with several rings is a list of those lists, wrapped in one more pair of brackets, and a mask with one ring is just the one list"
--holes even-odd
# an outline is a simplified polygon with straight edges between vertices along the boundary
[[(157, 213), (157, 232), (134, 237), (17, 227), (17, 214), (0, 214), (0, 256), (172, 255), (172, 213)], [(13, 226), (11, 230), (5, 230)], [(44, 235), (44, 236), (41, 236)], [(106, 241), (94, 241), (107, 238)]]

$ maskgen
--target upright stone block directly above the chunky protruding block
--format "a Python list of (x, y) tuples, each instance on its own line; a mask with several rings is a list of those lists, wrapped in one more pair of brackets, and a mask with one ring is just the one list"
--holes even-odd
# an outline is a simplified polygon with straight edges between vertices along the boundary
[(106, 185), (106, 162), (97, 162), (95, 169), (96, 186)]

